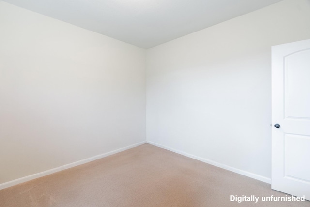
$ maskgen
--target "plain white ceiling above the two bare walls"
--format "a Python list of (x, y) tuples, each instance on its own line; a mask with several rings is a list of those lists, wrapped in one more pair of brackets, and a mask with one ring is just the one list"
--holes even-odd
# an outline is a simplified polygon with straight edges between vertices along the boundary
[(281, 0), (3, 0), (151, 48)]

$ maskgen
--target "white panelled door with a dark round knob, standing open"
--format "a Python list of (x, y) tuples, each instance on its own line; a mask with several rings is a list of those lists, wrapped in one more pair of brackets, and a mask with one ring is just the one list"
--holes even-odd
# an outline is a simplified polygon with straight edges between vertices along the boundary
[(310, 200), (310, 40), (272, 47), (271, 187)]

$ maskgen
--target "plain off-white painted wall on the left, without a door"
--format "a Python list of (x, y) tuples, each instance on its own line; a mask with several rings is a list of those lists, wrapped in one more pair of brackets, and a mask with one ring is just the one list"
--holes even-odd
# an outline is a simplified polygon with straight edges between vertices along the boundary
[(0, 183), (145, 142), (145, 50), (0, 1)]

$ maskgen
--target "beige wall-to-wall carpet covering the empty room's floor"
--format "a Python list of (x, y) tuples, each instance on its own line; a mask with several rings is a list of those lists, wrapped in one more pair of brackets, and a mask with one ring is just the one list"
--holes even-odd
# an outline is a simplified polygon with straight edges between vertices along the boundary
[(144, 144), (0, 191), (1, 207), (310, 207), (310, 201), (230, 201), (285, 196), (269, 184)]

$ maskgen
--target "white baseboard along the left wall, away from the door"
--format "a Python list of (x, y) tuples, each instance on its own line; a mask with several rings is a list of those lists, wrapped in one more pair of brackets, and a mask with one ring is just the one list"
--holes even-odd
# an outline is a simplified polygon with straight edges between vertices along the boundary
[(82, 159), (82, 160), (79, 160), (79, 161), (76, 161), (76, 162), (72, 162), (72, 163), (69, 163), (69, 164), (62, 165), (60, 167), (56, 167), (56, 168), (47, 170), (47, 171), (43, 171), (43, 172), (36, 173), (36, 174), (33, 174), (33, 175), (28, 175), (26, 177), (21, 177), (21, 178), (18, 178), (16, 180), (12, 180), (12, 181), (9, 181), (9, 182), (6, 182), (6, 183), (2, 183), (2, 184), (0, 184), (0, 190), (8, 188), (8, 187), (11, 187), (11, 186), (14, 186), (14, 185), (17, 185), (17, 184), (20, 184), (20, 183), (23, 183), (23, 182), (27, 182), (27, 181), (36, 179), (36, 178), (39, 178), (39, 177), (50, 175), (50, 174), (53, 174), (53, 173), (56, 173), (56, 172), (59, 172), (59, 171), (62, 171), (62, 170), (65, 170), (65, 169), (68, 169), (68, 168), (71, 168), (71, 167), (75, 167), (75, 166), (78, 166), (78, 165), (81, 165), (81, 164), (84, 164), (84, 163), (87, 163), (87, 162), (91, 162), (91, 161), (96, 160), (96, 159), (104, 158), (104, 157), (107, 157), (109, 155), (113, 155), (113, 154), (122, 152), (124, 150), (127, 150), (127, 149), (130, 149), (130, 148), (139, 146), (139, 145), (144, 144), (144, 143), (146, 143), (146, 141), (143, 141), (143, 142), (140, 142), (140, 143), (135, 143), (135, 144), (132, 144), (130, 146), (126, 146), (126, 147), (123, 147), (123, 148), (120, 148), (120, 149), (117, 149), (117, 150), (113, 150), (113, 151), (110, 151), (110, 152), (107, 152), (107, 153), (103, 153), (101, 155), (96, 155), (96, 156), (93, 156), (91, 158)]

